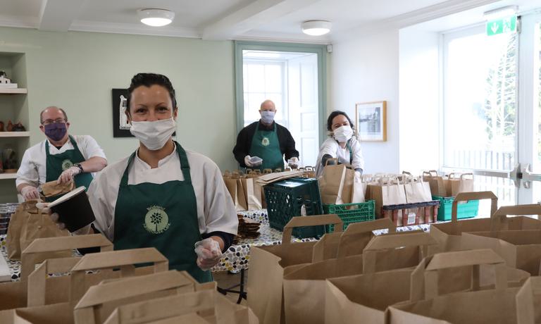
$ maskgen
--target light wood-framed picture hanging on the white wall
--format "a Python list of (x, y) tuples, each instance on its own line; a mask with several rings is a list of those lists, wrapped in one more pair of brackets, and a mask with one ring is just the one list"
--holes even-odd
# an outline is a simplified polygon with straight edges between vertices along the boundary
[(387, 141), (387, 101), (355, 104), (355, 127), (361, 141)]

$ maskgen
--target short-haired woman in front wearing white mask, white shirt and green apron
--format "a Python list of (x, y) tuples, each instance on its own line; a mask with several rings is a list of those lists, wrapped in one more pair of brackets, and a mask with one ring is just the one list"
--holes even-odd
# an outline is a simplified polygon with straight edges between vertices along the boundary
[[(115, 249), (156, 247), (170, 268), (186, 270), (199, 282), (211, 281), (209, 269), (228, 249), (238, 226), (220, 170), (171, 137), (178, 107), (165, 75), (135, 75), (127, 104), (130, 132), (139, 147), (94, 179), (88, 194), (96, 220), (75, 234), (101, 232)], [(56, 214), (51, 218), (58, 221)]]

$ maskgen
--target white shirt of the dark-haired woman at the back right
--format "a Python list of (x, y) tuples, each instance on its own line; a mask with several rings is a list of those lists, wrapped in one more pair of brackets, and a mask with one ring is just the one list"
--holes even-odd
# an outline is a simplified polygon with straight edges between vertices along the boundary
[[(355, 170), (356, 168), (361, 168), (364, 170), (364, 158), (363, 158), (363, 151), (361, 151), (361, 143), (359, 143), (359, 140), (357, 140), (356, 137), (352, 137), (352, 139), (349, 141), (349, 145), (352, 147), (352, 168)], [(340, 147), (340, 144), (336, 142), (336, 139), (330, 137), (321, 144), (321, 147), (319, 148), (319, 155), (318, 155), (318, 162), (316, 163), (316, 175), (319, 177), (323, 173), (323, 166), (321, 166), (321, 158), (328, 154), (332, 156), (332, 158), (338, 158), (338, 162), (349, 164), (349, 149), (347, 146), (342, 149)]]

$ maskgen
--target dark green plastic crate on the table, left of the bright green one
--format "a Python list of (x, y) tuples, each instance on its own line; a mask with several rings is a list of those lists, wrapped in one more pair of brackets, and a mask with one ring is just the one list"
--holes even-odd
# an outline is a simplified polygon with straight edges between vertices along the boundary
[[(301, 216), (301, 207), (306, 207), (306, 216), (323, 214), (318, 180), (292, 177), (273, 182), (263, 187), (267, 203), (268, 223), (271, 228), (284, 230), (284, 226), (294, 216)], [(306, 226), (294, 228), (294, 237), (321, 237), (325, 226)]]

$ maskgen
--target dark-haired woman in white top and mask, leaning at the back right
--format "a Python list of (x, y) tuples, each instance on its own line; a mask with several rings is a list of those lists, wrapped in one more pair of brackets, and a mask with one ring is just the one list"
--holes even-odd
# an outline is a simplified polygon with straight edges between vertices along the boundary
[(329, 138), (323, 142), (319, 149), (316, 173), (320, 176), (323, 167), (329, 158), (338, 158), (338, 163), (351, 165), (362, 174), (364, 169), (363, 152), (361, 144), (354, 136), (352, 120), (343, 111), (333, 111), (327, 119)]

